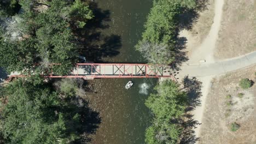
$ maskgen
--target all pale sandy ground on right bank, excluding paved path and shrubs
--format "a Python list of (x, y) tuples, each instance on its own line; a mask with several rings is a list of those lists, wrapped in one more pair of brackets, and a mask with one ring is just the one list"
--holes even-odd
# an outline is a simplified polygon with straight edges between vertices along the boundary
[[(256, 50), (256, 1), (214, 2), (213, 23), (200, 45), (198, 37), (191, 31), (184, 30), (180, 33), (180, 37), (188, 39), (189, 61), (185, 65), (200, 65), (201, 60), (214, 63)], [(242, 73), (243, 71), (246, 73)], [(256, 86), (249, 91), (243, 91), (237, 86), (241, 77), (255, 80), (254, 72), (255, 67), (251, 67), (217, 79), (213, 79), (214, 75), (197, 77), (202, 82), (201, 106), (197, 106), (192, 114), (201, 123), (194, 129), (196, 137), (200, 137), (198, 143), (256, 143)], [(237, 97), (238, 93), (245, 94), (243, 99)], [(232, 95), (232, 103), (228, 108), (225, 94)], [(240, 130), (231, 132), (232, 122), (240, 124)]]

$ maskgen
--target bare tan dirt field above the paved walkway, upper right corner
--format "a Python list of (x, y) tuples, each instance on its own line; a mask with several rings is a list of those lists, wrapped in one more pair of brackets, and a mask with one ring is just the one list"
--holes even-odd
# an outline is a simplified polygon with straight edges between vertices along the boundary
[(255, 50), (256, 1), (225, 0), (215, 57), (231, 58)]

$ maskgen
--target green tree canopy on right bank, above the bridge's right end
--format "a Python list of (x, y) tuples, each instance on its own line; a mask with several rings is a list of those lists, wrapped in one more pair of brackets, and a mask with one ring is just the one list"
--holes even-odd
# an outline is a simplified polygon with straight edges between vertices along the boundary
[[(173, 49), (176, 44), (178, 27), (178, 14), (182, 13), (183, 8), (193, 9), (196, 5), (195, 0), (154, 0), (153, 8), (150, 10), (145, 31), (142, 33), (142, 40), (139, 40), (136, 49), (142, 53), (148, 51), (148, 55), (143, 55), (149, 63), (170, 64), (174, 61)], [(161, 52), (149, 45), (164, 45)], [(160, 58), (161, 57), (161, 58)]]

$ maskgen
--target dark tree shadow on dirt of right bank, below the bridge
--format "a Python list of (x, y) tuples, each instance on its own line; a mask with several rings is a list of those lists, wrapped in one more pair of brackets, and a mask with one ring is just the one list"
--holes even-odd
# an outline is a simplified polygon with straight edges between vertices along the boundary
[(185, 110), (186, 114), (183, 120), (184, 130), (180, 141), (182, 144), (196, 143), (196, 141), (199, 140), (199, 137), (196, 137), (195, 135), (194, 128), (196, 128), (197, 125), (200, 125), (200, 123), (193, 119), (193, 115), (190, 114), (190, 111), (194, 110), (196, 106), (201, 105), (201, 85), (202, 82), (197, 80), (196, 77), (189, 78), (188, 76), (185, 76), (183, 79), (182, 91), (186, 91), (188, 93), (189, 106)]

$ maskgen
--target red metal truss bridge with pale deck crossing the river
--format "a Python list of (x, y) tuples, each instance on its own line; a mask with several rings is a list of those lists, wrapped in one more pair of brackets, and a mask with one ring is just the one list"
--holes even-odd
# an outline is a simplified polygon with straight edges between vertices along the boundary
[[(16, 74), (10, 77), (21, 77)], [(147, 78), (147, 77), (172, 77), (168, 65), (129, 64), (129, 63), (77, 63), (71, 74), (66, 76), (55, 75), (51, 70), (50, 75), (44, 77), (80, 77), (84, 79), (95, 78)]]

